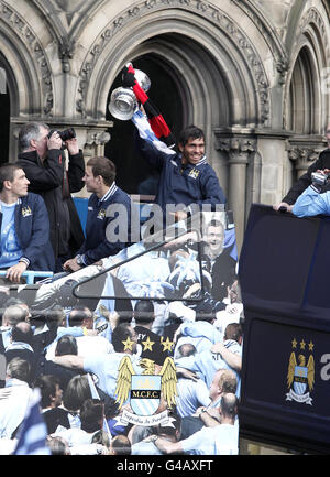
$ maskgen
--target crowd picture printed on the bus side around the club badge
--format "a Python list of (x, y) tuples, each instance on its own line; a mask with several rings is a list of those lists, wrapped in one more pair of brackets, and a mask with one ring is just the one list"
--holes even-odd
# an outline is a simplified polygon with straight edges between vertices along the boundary
[[(226, 219), (205, 215), (201, 241), (191, 230), (142, 240), (36, 285), (1, 288), (2, 454), (14, 452), (34, 388), (52, 454), (238, 454), (243, 305)], [(130, 399), (118, 402), (125, 356), (139, 376), (173, 359), (175, 405), (162, 392), (150, 411), (167, 421), (122, 419), (136, 415)]]

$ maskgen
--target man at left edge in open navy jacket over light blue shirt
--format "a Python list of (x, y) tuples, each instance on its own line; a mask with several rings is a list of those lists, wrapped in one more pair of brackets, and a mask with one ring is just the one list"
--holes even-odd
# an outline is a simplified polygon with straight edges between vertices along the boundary
[(54, 271), (48, 213), (40, 195), (28, 193), (24, 171), (15, 164), (0, 167), (0, 269), (20, 282), (26, 269)]

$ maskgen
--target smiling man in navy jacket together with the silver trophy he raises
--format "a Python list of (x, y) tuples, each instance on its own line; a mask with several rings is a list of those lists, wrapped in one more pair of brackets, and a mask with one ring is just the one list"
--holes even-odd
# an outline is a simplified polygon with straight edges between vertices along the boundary
[[(124, 88), (112, 93), (109, 110), (119, 119), (132, 119), (136, 127), (139, 151), (160, 172), (155, 204), (162, 210), (162, 226), (165, 228), (202, 210), (205, 204), (216, 210), (218, 204), (226, 203), (226, 197), (216, 172), (207, 163), (204, 131), (194, 124), (186, 127), (180, 133), (176, 153), (172, 149), (173, 137), (163, 116), (146, 95), (150, 80), (141, 78), (141, 74), (144, 75), (135, 71), (131, 63), (124, 67)], [(122, 101), (123, 91), (131, 95), (129, 108), (127, 99)]]

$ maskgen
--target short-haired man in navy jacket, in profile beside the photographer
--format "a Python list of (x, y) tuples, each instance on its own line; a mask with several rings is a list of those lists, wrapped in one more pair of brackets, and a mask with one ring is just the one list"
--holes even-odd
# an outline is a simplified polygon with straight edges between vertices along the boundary
[(82, 177), (88, 200), (86, 239), (75, 258), (64, 263), (77, 271), (102, 258), (114, 256), (130, 243), (131, 198), (116, 185), (116, 165), (108, 158), (89, 159)]

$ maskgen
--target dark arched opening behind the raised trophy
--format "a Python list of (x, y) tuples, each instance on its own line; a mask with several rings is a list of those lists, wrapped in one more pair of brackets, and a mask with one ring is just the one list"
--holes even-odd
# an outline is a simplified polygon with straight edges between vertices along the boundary
[[(183, 128), (183, 105), (173, 77), (162, 66), (158, 58), (146, 55), (133, 62), (135, 68), (146, 73), (151, 79), (147, 95), (162, 112), (175, 138)], [(116, 78), (108, 96), (121, 86), (121, 74)], [(113, 118), (107, 107), (107, 120), (113, 121), (110, 129), (111, 140), (106, 144), (105, 153), (117, 166), (117, 184), (129, 194), (155, 195), (157, 176), (151, 166), (138, 154), (133, 144), (134, 124)]]

